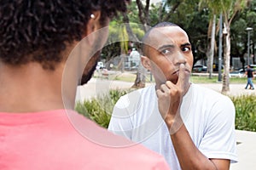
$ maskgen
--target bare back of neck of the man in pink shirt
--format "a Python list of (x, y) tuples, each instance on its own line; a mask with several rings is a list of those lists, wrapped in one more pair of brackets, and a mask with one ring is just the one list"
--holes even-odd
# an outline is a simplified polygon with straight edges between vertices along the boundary
[(36, 112), (64, 109), (61, 93), (63, 66), (44, 70), (38, 63), (19, 67), (0, 65), (0, 111)]

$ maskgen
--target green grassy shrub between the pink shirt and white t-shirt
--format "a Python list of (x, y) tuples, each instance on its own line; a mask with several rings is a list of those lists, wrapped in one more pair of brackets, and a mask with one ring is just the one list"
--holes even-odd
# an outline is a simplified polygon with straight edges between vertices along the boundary
[(127, 93), (127, 90), (112, 89), (109, 94), (102, 94), (96, 98), (78, 102), (75, 110), (98, 125), (108, 128), (113, 106), (122, 95)]

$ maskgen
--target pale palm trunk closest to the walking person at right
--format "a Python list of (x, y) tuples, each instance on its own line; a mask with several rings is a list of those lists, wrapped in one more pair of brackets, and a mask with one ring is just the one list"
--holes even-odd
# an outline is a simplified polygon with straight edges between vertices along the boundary
[(227, 34), (224, 36), (224, 75), (222, 94), (228, 94), (230, 92), (230, 25), (225, 24)]

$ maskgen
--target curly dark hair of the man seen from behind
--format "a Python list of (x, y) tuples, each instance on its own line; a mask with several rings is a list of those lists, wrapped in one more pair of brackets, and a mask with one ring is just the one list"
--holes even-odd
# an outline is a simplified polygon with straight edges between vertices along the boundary
[(81, 40), (93, 11), (101, 23), (125, 12), (128, 0), (3, 0), (0, 4), (0, 59), (9, 65), (35, 61), (54, 69), (67, 42)]

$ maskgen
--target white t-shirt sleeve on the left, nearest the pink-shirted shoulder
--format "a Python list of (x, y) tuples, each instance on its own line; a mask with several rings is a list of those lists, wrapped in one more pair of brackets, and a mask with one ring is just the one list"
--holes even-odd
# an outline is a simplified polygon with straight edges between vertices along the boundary
[(131, 139), (133, 126), (126, 105), (128, 105), (128, 101), (125, 96), (121, 97), (116, 105), (114, 105), (108, 131)]

